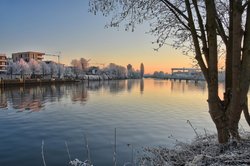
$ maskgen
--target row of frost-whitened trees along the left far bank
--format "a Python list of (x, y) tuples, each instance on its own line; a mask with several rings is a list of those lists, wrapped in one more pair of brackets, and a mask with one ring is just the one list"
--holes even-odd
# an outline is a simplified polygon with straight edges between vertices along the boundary
[[(112, 79), (125, 79), (125, 78), (140, 78), (143, 77), (142, 72), (134, 71), (131, 65), (131, 70), (127, 70), (125, 67), (110, 63), (107, 67), (100, 69), (99, 67), (88, 67), (89, 60), (80, 58), (79, 60), (73, 59), (72, 66), (67, 67), (62, 64), (55, 62), (44, 62), (30, 59), (29, 62), (20, 59), (17, 62), (9, 61), (7, 65), (7, 74), (12, 78), (13, 75), (20, 75), (21, 78), (24, 76), (36, 76), (40, 77), (71, 77), (71, 78), (84, 78), (86, 74), (93, 74), (90, 70), (96, 70), (96, 75), (106, 75), (105, 78)], [(143, 65), (143, 64), (142, 64)], [(144, 72), (144, 67), (143, 67)], [(128, 73), (132, 73), (133, 77), (130, 77)], [(131, 75), (132, 75), (131, 74)]]

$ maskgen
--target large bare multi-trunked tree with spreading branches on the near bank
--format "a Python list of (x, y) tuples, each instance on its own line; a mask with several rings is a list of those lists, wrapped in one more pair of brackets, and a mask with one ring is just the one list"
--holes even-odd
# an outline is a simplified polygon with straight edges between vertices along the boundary
[[(157, 49), (172, 45), (193, 51), (208, 85), (209, 113), (220, 143), (240, 139), (242, 111), (250, 124), (247, 93), (250, 83), (250, 6), (248, 0), (89, 0), (90, 11), (112, 15), (109, 26), (149, 21)], [(225, 94), (218, 95), (218, 57), (225, 49)]]

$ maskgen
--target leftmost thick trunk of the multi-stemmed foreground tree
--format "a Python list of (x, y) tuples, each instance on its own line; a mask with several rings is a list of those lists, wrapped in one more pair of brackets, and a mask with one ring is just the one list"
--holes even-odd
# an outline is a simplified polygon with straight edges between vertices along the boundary
[(216, 125), (219, 143), (229, 140), (228, 118), (225, 107), (218, 96), (218, 45), (216, 32), (216, 8), (214, 1), (206, 0), (207, 38), (209, 47), (208, 60), (208, 105), (209, 113)]

